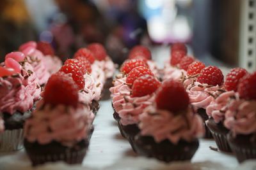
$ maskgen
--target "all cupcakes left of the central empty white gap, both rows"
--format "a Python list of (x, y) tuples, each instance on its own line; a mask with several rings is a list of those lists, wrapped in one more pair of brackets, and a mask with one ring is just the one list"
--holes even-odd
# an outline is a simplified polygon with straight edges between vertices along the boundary
[[(51, 64), (45, 64), (47, 56), (42, 52), (49, 52), (49, 47), (30, 41), (20, 47), (26, 55), (9, 53), (1, 64), (1, 151), (19, 150), (25, 136), (24, 145), (33, 165), (56, 160), (81, 163), (82, 157), (70, 158), (70, 152), (85, 154), (104, 83), (111, 80), (115, 65), (99, 43), (79, 49), (75, 59), (66, 60), (63, 66), (59, 67), (54, 55)], [(83, 145), (83, 152), (77, 145)], [(36, 150), (38, 146), (42, 150)], [(54, 148), (57, 150), (51, 152)]]

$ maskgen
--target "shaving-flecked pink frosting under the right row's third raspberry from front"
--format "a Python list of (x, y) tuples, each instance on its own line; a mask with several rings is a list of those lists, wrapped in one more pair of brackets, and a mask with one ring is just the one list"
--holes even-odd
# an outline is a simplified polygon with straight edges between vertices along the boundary
[(221, 89), (219, 85), (212, 86), (208, 84), (202, 84), (198, 81), (191, 83), (191, 79), (184, 81), (184, 87), (188, 92), (191, 104), (195, 106), (195, 109), (204, 108), (214, 101), (214, 95)]

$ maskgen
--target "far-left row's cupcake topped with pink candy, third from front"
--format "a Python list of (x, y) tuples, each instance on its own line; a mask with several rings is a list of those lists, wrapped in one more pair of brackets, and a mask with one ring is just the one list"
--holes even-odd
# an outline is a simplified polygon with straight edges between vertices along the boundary
[(44, 86), (50, 77), (50, 73), (47, 71), (47, 66), (45, 66), (43, 53), (36, 49), (36, 43), (29, 41), (21, 45), (19, 51), (26, 55), (24, 61), (33, 66), (39, 85)]

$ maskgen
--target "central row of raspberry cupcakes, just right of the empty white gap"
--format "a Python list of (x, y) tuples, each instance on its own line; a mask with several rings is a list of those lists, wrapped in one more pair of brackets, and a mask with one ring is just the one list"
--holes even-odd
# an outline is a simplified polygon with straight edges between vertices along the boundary
[(186, 90), (179, 81), (161, 83), (145, 55), (133, 53), (131, 50), (130, 55), (137, 59), (124, 62), (110, 89), (113, 117), (122, 136), (140, 155), (165, 162), (191, 159), (204, 129)]

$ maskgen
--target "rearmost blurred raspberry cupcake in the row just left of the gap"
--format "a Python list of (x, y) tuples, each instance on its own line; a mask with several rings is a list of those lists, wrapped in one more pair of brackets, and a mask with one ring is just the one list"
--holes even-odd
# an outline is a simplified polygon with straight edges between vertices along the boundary
[(98, 65), (105, 74), (105, 83), (102, 89), (102, 98), (109, 99), (110, 92), (109, 88), (112, 86), (113, 74), (115, 73), (115, 64), (108, 56), (104, 46), (100, 43), (91, 43), (87, 48), (93, 53), (95, 62), (93, 65)]

